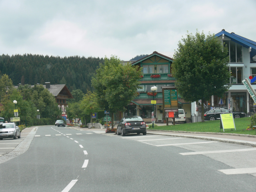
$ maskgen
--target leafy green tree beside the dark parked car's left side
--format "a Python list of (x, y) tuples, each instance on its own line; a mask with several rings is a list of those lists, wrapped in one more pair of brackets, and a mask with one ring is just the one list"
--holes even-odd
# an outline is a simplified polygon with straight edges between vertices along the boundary
[(100, 107), (109, 110), (112, 119), (114, 112), (124, 111), (125, 106), (136, 97), (141, 75), (142, 71), (138, 66), (122, 65), (116, 56), (111, 56), (110, 59), (105, 57), (104, 64), (100, 64), (96, 70), (96, 76), (92, 78), (92, 86)]

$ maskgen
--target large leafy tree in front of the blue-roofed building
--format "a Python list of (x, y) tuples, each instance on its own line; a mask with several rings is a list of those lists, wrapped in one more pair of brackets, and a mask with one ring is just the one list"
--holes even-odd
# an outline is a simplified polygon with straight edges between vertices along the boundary
[(230, 87), (228, 60), (227, 47), (210, 33), (207, 37), (203, 32), (188, 33), (178, 43), (172, 64), (175, 85), (184, 100), (202, 100), (202, 121), (204, 101), (212, 95), (223, 96)]

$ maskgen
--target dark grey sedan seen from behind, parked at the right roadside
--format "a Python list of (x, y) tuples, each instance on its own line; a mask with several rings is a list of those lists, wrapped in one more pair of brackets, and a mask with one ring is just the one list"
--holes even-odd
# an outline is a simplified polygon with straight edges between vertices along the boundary
[(125, 136), (129, 133), (147, 134), (146, 123), (140, 116), (123, 117), (117, 126), (117, 134)]

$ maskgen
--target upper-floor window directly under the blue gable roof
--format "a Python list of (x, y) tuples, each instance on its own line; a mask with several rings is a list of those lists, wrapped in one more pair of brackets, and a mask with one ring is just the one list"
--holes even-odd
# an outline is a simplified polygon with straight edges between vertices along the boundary
[(243, 46), (230, 40), (224, 40), (224, 45), (228, 46), (229, 62), (242, 63), (243, 62)]

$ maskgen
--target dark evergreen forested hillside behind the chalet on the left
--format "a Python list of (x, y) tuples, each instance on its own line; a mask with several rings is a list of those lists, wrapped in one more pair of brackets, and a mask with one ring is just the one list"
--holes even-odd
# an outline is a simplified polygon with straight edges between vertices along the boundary
[(14, 85), (66, 84), (70, 91), (91, 90), (91, 80), (103, 58), (64, 57), (42, 55), (0, 56), (0, 76), (7, 74)]

